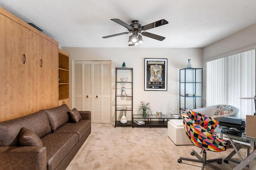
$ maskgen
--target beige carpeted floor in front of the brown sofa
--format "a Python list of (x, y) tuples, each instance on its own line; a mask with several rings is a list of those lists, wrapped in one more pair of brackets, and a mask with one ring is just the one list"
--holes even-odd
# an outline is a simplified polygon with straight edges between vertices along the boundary
[[(192, 150), (200, 153), (194, 145), (176, 146), (167, 136), (167, 128), (116, 127), (111, 124), (92, 124), (92, 133), (84, 142), (66, 170), (201, 170), (201, 163), (183, 160)], [(207, 151), (207, 158), (226, 158), (233, 148), (224, 152)], [(246, 148), (240, 150), (245, 158)], [(235, 155), (233, 158), (239, 160)], [(222, 170), (232, 170), (237, 164), (212, 163)], [(205, 170), (212, 170), (209, 166)], [(249, 168), (244, 168), (249, 170)]]

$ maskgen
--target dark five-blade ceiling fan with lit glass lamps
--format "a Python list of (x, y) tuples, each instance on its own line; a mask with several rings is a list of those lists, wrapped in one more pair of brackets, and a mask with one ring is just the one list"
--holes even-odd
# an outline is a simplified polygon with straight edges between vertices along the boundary
[(111, 19), (111, 20), (116, 22), (117, 24), (120, 24), (121, 26), (124, 26), (125, 28), (127, 28), (128, 32), (113, 34), (113, 35), (105, 36), (105, 37), (102, 37), (102, 38), (110, 38), (110, 37), (120, 36), (120, 35), (123, 35), (123, 34), (132, 33), (132, 35), (129, 37), (129, 41), (128, 41), (129, 46), (132, 46), (132, 45), (136, 46), (139, 43), (143, 43), (142, 36), (153, 38), (153, 39), (159, 40), (159, 41), (162, 41), (162, 40), (165, 39), (165, 37), (158, 36), (156, 34), (152, 34), (152, 33), (149, 33), (149, 32), (142, 32), (142, 31), (145, 31), (145, 30), (149, 30), (151, 28), (156, 28), (156, 27), (168, 24), (168, 21), (166, 21), (164, 19), (153, 22), (153, 23), (145, 25), (145, 26), (142, 26), (141, 24), (139, 24), (138, 20), (132, 20), (132, 24), (130, 24), (130, 25), (126, 24), (125, 22), (123, 22), (119, 19)]

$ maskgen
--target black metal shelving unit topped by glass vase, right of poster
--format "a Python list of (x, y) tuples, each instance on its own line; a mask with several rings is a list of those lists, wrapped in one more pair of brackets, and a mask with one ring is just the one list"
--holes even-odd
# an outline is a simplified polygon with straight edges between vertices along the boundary
[(180, 69), (180, 113), (203, 106), (203, 69)]

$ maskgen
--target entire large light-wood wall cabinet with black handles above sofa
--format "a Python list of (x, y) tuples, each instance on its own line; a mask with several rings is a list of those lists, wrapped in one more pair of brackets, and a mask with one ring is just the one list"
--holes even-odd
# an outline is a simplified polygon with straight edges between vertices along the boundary
[(1, 7), (0, 30), (0, 121), (56, 107), (58, 42)]

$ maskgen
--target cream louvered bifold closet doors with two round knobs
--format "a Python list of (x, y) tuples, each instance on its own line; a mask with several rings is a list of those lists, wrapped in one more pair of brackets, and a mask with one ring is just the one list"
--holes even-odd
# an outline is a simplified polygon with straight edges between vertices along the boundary
[(91, 111), (92, 123), (111, 121), (111, 61), (74, 61), (73, 106)]

